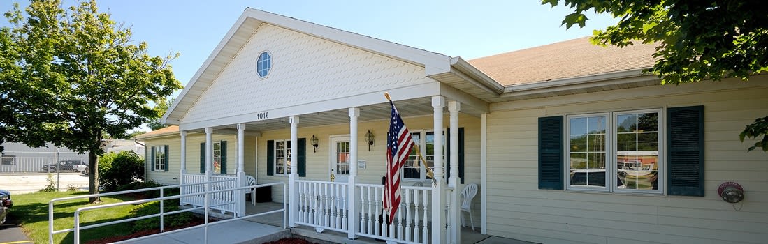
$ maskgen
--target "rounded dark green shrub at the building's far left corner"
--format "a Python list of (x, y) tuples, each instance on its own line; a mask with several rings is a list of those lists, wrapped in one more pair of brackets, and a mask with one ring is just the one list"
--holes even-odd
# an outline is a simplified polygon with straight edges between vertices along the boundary
[(98, 161), (98, 182), (104, 190), (144, 180), (144, 161), (133, 151), (106, 153)]

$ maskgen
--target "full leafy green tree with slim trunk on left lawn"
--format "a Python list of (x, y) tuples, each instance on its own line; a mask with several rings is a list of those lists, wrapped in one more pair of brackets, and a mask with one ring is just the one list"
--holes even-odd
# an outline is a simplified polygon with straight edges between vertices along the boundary
[(102, 140), (161, 115), (150, 104), (181, 87), (168, 65), (178, 54), (147, 54), (147, 43), (133, 44), (131, 29), (94, 0), (67, 9), (32, 0), (25, 14), (15, 4), (5, 17), (12, 27), (0, 29), (0, 140), (88, 152), (89, 187), (98, 193)]

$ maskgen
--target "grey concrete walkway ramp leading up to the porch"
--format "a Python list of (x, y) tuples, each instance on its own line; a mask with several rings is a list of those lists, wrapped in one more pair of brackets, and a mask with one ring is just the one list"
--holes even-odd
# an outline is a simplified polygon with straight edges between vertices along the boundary
[[(247, 220), (234, 220), (227, 223), (214, 223), (208, 226), (207, 243), (263, 243), (290, 237), (290, 229)], [(116, 243), (141, 243), (141, 244), (197, 244), (206, 243), (204, 228), (184, 229), (179, 232), (153, 236), (147, 239), (129, 239)]]

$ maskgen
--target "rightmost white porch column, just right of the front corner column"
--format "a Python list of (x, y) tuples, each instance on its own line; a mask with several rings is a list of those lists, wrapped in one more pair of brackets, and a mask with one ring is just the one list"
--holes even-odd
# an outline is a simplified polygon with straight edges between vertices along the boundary
[(460, 183), (458, 178), (458, 110), (461, 110), (461, 104), (459, 104), (458, 101), (449, 101), (448, 110), (451, 116), (449, 119), (451, 127), (451, 138), (448, 138), (451, 141), (451, 143), (449, 143), (451, 145), (451, 155), (449, 155), (451, 159), (449, 160), (451, 162), (451, 177), (448, 179), (448, 185), (453, 187), (453, 192), (449, 196), (451, 209), (449, 210), (448, 223), (451, 232), (452, 243), (455, 243), (461, 239), (462, 234), (461, 225), (458, 223), (460, 221), (459, 214), (461, 214), (458, 206), (458, 191), (461, 190), (458, 187), (458, 183)]

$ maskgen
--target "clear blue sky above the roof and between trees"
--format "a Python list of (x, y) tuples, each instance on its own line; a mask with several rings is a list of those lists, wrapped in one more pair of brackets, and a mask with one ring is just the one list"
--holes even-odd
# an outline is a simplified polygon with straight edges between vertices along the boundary
[[(17, 1), (0, 1), (0, 11), (11, 10), (12, 2)], [(75, 1), (63, 2), (69, 6)], [(593, 15), (586, 28), (566, 30), (560, 22), (570, 13), (568, 8), (550, 8), (536, 0), (101, 0), (98, 6), (113, 20), (131, 26), (133, 39), (147, 41), (152, 55), (179, 52), (171, 65), (182, 84), (247, 7), (465, 59), (579, 38), (616, 22)], [(7, 19), (0, 25), (7, 26)]]

